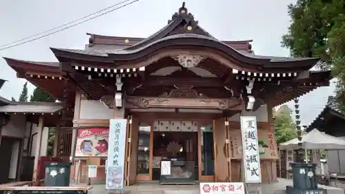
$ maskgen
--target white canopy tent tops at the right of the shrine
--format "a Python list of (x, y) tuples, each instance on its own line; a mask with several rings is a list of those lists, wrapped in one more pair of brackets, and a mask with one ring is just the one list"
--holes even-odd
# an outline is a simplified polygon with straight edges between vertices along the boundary
[[(288, 142), (279, 144), (281, 150), (297, 150), (298, 139), (291, 139)], [(345, 139), (333, 137), (320, 132), (316, 128), (302, 136), (302, 148), (305, 150), (345, 150)]]

